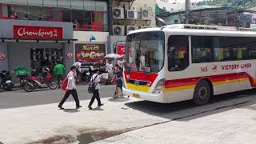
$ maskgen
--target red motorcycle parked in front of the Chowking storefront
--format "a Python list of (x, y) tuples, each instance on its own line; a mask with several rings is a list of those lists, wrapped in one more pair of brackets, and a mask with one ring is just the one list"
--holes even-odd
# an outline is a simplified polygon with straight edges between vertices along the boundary
[(45, 89), (50, 88), (50, 90), (55, 90), (58, 87), (58, 83), (53, 80), (53, 76), (50, 74), (50, 70), (46, 70), (42, 73), (42, 76), (34, 77), (30, 76), (26, 78), (26, 83), (24, 85), (24, 90), (26, 92), (31, 92), (35, 89)]

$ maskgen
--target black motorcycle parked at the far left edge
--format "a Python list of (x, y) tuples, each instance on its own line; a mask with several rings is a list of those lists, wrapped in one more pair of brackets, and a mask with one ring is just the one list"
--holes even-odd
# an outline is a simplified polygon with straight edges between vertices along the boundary
[(11, 80), (10, 72), (6, 70), (2, 70), (0, 72), (1, 85), (2, 89), (10, 91), (14, 87), (14, 82)]

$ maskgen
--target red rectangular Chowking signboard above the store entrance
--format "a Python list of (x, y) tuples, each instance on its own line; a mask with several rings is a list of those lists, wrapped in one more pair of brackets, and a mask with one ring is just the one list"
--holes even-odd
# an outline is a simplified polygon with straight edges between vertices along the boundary
[(14, 26), (14, 38), (62, 38), (62, 27)]

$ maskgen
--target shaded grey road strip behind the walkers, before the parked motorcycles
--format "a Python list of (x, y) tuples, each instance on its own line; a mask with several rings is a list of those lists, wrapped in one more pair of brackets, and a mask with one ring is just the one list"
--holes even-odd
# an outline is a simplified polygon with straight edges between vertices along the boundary
[[(114, 86), (103, 85), (99, 91), (101, 98), (108, 98), (114, 94)], [(91, 98), (91, 94), (87, 91), (87, 86), (77, 86), (79, 100)], [(22, 106), (45, 105), (50, 103), (58, 103), (64, 95), (63, 90), (37, 90), (34, 92), (26, 92), (15, 88), (13, 91), (0, 91), (0, 109), (9, 109)], [(72, 96), (67, 102), (74, 101)]]

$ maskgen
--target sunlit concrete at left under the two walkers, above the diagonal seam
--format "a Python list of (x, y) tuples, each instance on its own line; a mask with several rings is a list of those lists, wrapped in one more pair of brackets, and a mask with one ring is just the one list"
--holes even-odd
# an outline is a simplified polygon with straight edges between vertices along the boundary
[[(137, 99), (102, 98), (104, 106), (94, 110), (88, 110), (89, 100), (82, 101), (79, 110), (74, 109), (74, 102), (66, 102), (66, 110), (58, 110), (58, 104), (0, 110), (0, 142), (21, 144), (62, 136), (72, 142), (72, 138), (88, 131), (125, 130), (167, 121), (132, 110), (124, 105), (127, 101)], [(93, 107), (96, 105), (94, 102)]]

